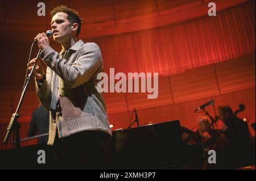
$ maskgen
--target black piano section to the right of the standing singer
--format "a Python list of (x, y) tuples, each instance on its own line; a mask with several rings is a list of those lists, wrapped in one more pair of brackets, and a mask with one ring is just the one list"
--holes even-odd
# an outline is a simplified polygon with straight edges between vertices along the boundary
[(187, 144), (180, 123), (168, 121), (113, 132), (115, 169), (176, 169), (205, 161), (201, 144)]

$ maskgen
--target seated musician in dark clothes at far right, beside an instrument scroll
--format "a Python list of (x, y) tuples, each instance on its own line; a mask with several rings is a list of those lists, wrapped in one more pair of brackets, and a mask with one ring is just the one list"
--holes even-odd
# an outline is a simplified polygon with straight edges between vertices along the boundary
[(247, 123), (238, 118), (230, 106), (218, 107), (218, 115), (224, 123), (222, 132), (228, 138), (228, 144), (225, 145), (226, 148), (220, 153), (222, 159), (232, 166), (250, 164), (253, 149)]

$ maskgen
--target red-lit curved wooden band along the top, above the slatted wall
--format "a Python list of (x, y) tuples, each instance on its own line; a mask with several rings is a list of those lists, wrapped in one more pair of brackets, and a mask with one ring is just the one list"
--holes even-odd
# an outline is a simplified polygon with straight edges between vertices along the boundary
[[(239, 5), (249, 0), (216, 1), (218, 11)], [(81, 38), (117, 35), (134, 31), (167, 26), (207, 14), (208, 0), (45, 0), (46, 16), (38, 16), (38, 1), (1, 1), (1, 33), (8, 33), (13, 40), (28, 40), (28, 36), (12, 37), (23, 31), (28, 34), (48, 30), (53, 7), (66, 5), (79, 11), (84, 19)], [(14, 31), (13, 31), (14, 30)], [(5, 34), (6, 35), (6, 34)], [(5, 39), (5, 37), (0, 37)]]

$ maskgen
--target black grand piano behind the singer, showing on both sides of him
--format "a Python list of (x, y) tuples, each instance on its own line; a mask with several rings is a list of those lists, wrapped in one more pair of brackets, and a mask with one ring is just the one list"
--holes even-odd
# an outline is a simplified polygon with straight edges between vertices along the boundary
[[(181, 169), (205, 161), (201, 144), (187, 144), (178, 120), (113, 131), (112, 169)], [(38, 164), (38, 150), (46, 163)], [(57, 169), (52, 146), (32, 145), (0, 151), (0, 169)]]

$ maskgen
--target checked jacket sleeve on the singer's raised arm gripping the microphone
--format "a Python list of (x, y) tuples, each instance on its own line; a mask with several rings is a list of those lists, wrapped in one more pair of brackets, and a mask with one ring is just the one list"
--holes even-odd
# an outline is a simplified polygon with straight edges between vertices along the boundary
[(97, 44), (84, 44), (77, 51), (81, 53), (72, 64), (68, 64), (65, 58), (60, 58), (60, 54), (51, 47), (44, 48), (40, 53), (47, 66), (63, 79), (65, 87), (68, 88), (75, 88), (89, 81), (103, 65), (100, 47)]

